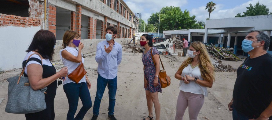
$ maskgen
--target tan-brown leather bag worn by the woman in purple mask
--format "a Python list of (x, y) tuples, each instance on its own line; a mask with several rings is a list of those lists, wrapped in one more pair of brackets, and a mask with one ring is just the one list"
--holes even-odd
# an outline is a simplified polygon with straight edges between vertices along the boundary
[(84, 65), (81, 62), (80, 65), (75, 68), (75, 70), (68, 75), (68, 78), (74, 81), (76, 84), (84, 77), (86, 74), (86, 70), (84, 69)]

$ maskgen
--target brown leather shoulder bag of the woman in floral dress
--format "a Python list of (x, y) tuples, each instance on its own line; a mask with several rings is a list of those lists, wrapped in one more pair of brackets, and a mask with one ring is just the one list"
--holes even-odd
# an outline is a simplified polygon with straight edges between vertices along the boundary
[[(151, 57), (152, 57), (154, 65), (156, 67), (156, 63), (155, 63), (155, 60), (154, 60), (154, 57), (152, 54), (152, 48), (151, 48)], [(159, 55), (159, 58), (160, 58), (160, 55)], [(161, 88), (165, 88), (171, 84), (171, 78), (166, 74), (166, 70), (164, 70), (164, 65), (163, 65), (163, 62), (161, 61), (161, 59), (160, 59), (160, 63), (161, 63), (161, 66), (163, 67), (163, 69), (160, 70), (160, 73), (159, 73), (160, 86), (161, 86)]]

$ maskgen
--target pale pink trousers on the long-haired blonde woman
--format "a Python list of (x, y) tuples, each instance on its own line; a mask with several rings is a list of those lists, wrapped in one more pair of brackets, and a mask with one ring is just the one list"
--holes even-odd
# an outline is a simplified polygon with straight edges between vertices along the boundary
[(189, 106), (190, 120), (197, 120), (197, 115), (204, 104), (203, 94), (194, 94), (190, 92), (180, 91), (177, 101), (177, 112), (175, 120), (182, 120), (187, 106)]

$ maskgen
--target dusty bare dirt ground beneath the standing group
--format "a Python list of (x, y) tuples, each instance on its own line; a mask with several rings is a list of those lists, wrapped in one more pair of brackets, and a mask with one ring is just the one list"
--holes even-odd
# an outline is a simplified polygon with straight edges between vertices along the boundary
[[(171, 77), (171, 85), (163, 88), (159, 93), (159, 101), (161, 105), (160, 119), (174, 120), (176, 114), (176, 103), (179, 94), (179, 80), (174, 75), (181, 63), (188, 57), (178, 57), (177, 53), (182, 49), (176, 49), (174, 54), (176, 58), (161, 57), (167, 74)], [(90, 89), (92, 103), (96, 94), (97, 84), (97, 65), (95, 61), (95, 53), (85, 54), (84, 67), (88, 72), (88, 78), (91, 81)], [(23, 58), (22, 58), (23, 59)], [(223, 64), (230, 64), (233, 68), (238, 68), (243, 61), (224, 61)], [(57, 71), (63, 67), (62, 62), (53, 62)], [(131, 49), (123, 49), (122, 62), (118, 67), (118, 83), (116, 92), (116, 105), (114, 115), (119, 120), (141, 120), (148, 116), (146, 105), (145, 90), (143, 88), (143, 63), (142, 53), (132, 53)], [(0, 119), (1, 120), (24, 120), (24, 114), (10, 114), (5, 112), (8, 97), (7, 78), (20, 73), (22, 69), (9, 70), (0, 74)], [(232, 99), (233, 86), (236, 80), (236, 71), (232, 72), (216, 72), (216, 81), (212, 88), (208, 88), (208, 97), (205, 97), (204, 105), (198, 115), (199, 120), (230, 120), (232, 112), (228, 110), (227, 104)], [(54, 101), (55, 119), (65, 120), (69, 109), (68, 100), (63, 91), (63, 86), (57, 88), (57, 94)], [(82, 103), (79, 100), (78, 110)], [(93, 113), (93, 107), (87, 112), (84, 120), (90, 120)], [(155, 110), (153, 107), (155, 116)], [(76, 113), (77, 114), (77, 113)], [(100, 114), (98, 120), (108, 119), (108, 89), (105, 90), (101, 101)], [(205, 118), (206, 117), (206, 118)], [(189, 120), (188, 108), (184, 115), (184, 120)]]

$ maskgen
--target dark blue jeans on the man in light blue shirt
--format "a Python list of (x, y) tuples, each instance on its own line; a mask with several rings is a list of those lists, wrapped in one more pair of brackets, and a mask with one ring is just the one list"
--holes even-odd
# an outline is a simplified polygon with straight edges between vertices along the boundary
[(94, 108), (93, 113), (94, 115), (99, 115), (99, 107), (101, 103), (101, 99), (105, 92), (105, 88), (108, 84), (108, 115), (113, 115), (114, 106), (115, 106), (115, 94), (117, 89), (117, 76), (113, 79), (105, 79), (98, 74), (97, 77), (97, 85), (96, 85), (96, 95), (94, 98)]

